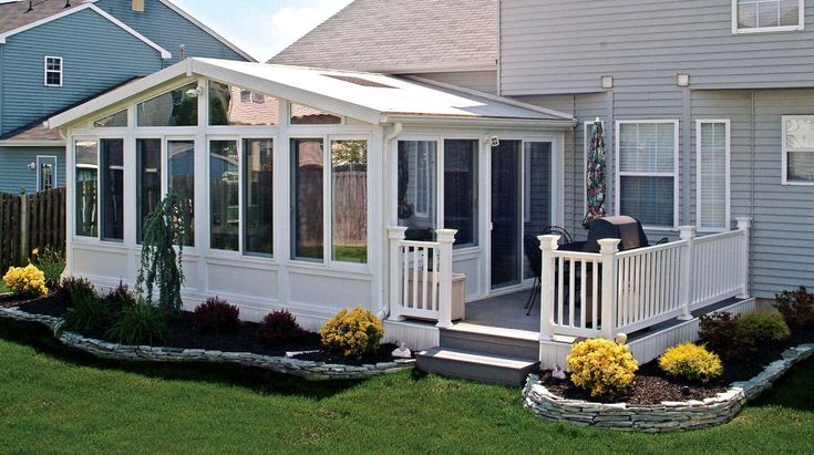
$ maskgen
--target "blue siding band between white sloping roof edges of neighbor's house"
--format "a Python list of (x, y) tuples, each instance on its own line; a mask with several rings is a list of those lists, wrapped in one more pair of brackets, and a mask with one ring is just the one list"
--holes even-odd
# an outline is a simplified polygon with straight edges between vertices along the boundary
[(145, 3), (143, 12), (133, 11), (131, 0), (102, 0), (96, 6), (169, 51), (173, 59), (166, 61), (166, 65), (181, 60), (181, 44), (186, 46), (185, 56), (246, 61), (231, 48), (162, 2), (148, 0)]

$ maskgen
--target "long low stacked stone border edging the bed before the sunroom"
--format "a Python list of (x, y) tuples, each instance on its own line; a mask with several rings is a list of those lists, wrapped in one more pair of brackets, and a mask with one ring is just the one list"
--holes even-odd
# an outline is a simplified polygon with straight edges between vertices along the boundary
[(203, 349), (157, 348), (125, 345), (84, 338), (79, 333), (63, 331), (62, 318), (31, 314), (19, 309), (0, 309), (0, 318), (20, 322), (35, 322), (50, 328), (62, 344), (84, 351), (102, 359), (150, 362), (213, 362), (269, 370), (277, 373), (303, 378), (308, 381), (359, 380), (378, 374), (411, 370), (415, 360), (399, 359), (377, 364), (346, 365), (319, 361), (298, 360), (287, 356), (270, 356), (248, 352), (221, 352)]

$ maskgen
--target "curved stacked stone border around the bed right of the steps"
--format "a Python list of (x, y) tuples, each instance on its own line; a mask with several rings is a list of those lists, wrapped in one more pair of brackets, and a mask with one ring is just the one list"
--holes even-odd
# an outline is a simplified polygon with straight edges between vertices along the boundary
[(526, 381), (523, 400), (526, 407), (546, 421), (645, 433), (699, 430), (731, 421), (746, 402), (771, 389), (792, 366), (813, 354), (814, 343), (790, 348), (783, 352), (782, 359), (769, 364), (756, 376), (749, 381), (734, 382), (725, 392), (703, 401), (629, 405), (566, 400), (549, 392), (535, 374), (529, 375)]

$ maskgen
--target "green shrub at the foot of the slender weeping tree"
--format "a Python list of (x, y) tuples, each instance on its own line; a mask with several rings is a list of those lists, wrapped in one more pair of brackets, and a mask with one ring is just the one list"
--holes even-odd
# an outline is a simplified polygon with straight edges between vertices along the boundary
[(122, 344), (153, 344), (166, 340), (168, 331), (164, 310), (140, 299), (119, 313), (107, 335)]

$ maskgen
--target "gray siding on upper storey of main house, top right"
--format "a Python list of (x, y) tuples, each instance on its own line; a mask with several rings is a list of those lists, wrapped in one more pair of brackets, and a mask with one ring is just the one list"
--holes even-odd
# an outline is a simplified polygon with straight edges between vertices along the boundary
[(595, 92), (617, 86), (812, 86), (814, 0), (806, 30), (732, 33), (731, 0), (502, 0), (501, 93)]

